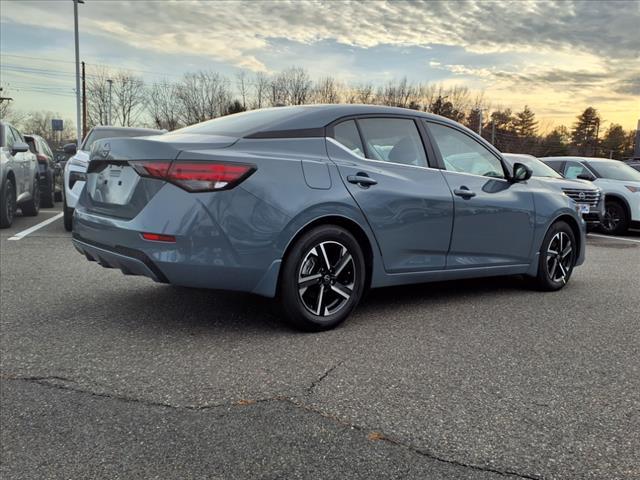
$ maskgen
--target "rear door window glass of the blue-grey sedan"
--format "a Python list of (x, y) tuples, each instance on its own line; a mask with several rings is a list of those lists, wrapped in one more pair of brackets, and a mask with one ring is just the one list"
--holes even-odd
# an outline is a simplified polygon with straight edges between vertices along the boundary
[(363, 118), (358, 120), (367, 158), (403, 165), (427, 166), (427, 156), (413, 120)]

